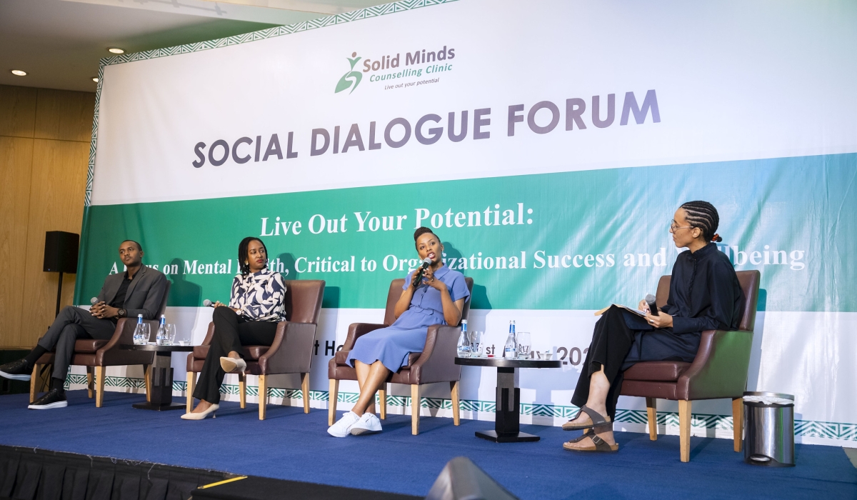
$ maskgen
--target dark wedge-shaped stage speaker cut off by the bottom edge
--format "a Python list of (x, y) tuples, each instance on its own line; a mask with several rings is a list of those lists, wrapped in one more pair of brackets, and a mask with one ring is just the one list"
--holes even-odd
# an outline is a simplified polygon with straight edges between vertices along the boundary
[(426, 500), (518, 500), (466, 456), (446, 463)]

